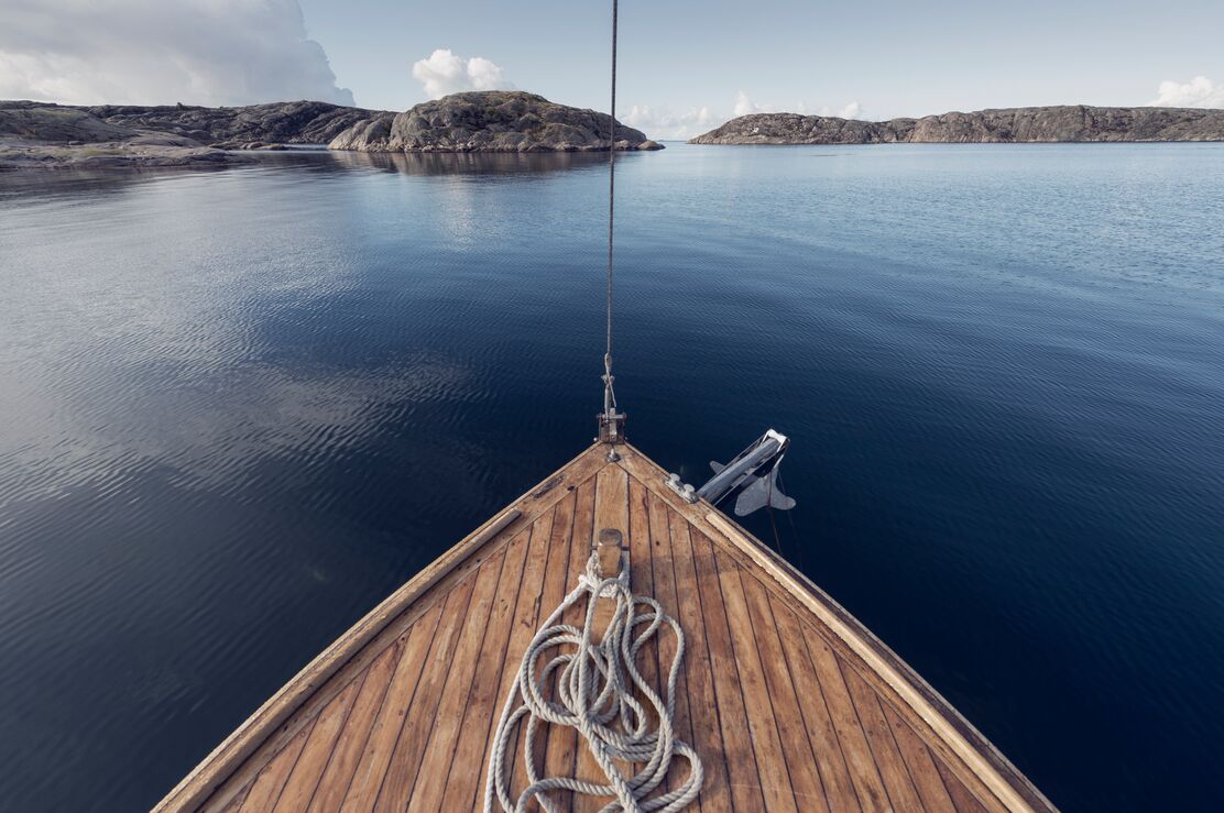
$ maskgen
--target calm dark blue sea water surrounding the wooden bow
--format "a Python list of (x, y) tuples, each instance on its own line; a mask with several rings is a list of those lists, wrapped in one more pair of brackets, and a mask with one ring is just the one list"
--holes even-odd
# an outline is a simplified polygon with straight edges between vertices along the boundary
[[(155, 802), (594, 434), (606, 169), (0, 175), (0, 807)], [(1224, 145), (618, 161), (617, 390), (1069, 811), (1224, 793)], [(753, 529), (772, 539), (763, 517)]]

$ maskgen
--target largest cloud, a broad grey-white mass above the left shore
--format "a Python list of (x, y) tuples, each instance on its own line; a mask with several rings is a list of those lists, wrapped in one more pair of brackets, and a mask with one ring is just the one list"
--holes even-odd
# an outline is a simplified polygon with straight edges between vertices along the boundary
[(0, 98), (354, 103), (299, 0), (2, 0)]

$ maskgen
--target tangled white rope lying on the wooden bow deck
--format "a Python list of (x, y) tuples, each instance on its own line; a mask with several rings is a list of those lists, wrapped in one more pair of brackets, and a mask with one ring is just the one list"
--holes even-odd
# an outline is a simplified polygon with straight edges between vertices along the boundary
[[(623, 557), (622, 557), (623, 561)], [(616, 609), (600, 643), (592, 643), (595, 608), (601, 600), (616, 599)], [(565, 610), (586, 600), (583, 628), (561, 624)], [(665, 698), (638, 672), (634, 659), (659, 631), (667, 625), (676, 636), (676, 655), (667, 672)], [(485, 813), (526, 811), (535, 798), (548, 813), (559, 809), (547, 791), (573, 791), (589, 796), (613, 796), (603, 808), (614, 811), (679, 811), (696, 798), (704, 773), (692, 746), (676, 738), (676, 681), (684, 659), (684, 633), (679, 624), (663, 613), (659, 601), (629, 590), (629, 573), (623, 568), (614, 578), (601, 579), (599, 557), (591, 554), (578, 587), (553, 611), (523, 655), (518, 677), (510, 686), (497, 724), (485, 781)], [(542, 663), (542, 666), (541, 666)], [(545, 699), (545, 686), (556, 681), (557, 702)], [(651, 714), (634, 697), (634, 690), (646, 699)], [(515, 726), (526, 718), (523, 754), (528, 786), (518, 797), (510, 796), (506, 778), (506, 752)], [(651, 719), (657, 730), (649, 730)], [(545, 776), (535, 764), (535, 742), (542, 734), (541, 723), (578, 729), (583, 741), (603, 770), (606, 784), (573, 776)], [(554, 732), (556, 736), (556, 732)], [(666, 793), (646, 798), (662, 784), (676, 756), (689, 763), (688, 778)], [(622, 763), (645, 763), (633, 776), (625, 776)]]

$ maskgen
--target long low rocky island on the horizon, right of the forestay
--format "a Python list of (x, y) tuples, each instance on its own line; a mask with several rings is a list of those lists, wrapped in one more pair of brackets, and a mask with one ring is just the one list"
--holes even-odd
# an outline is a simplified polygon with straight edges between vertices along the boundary
[(886, 144), (1224, 141), (1224, 110), (1006, 108), (922, 119), (858, 121), (763, 112), (732, 119), (690, 144)]

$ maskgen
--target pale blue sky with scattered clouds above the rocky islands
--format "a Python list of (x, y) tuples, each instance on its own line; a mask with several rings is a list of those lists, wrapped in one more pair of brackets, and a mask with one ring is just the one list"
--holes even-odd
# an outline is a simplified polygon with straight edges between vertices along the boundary
[[(406, 110), (518, 88), (607, 110), (611, 2), (0, 0), (0, 99)], [(622, 0), (617, 115), (868, 120), (1045, 104), (1224, 108), (1224, 0)]]

